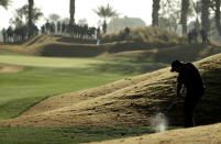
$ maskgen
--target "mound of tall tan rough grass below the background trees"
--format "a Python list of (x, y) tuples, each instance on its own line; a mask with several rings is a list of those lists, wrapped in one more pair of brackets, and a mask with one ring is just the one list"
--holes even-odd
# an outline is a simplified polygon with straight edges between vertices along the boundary
[(154, 26), (131, 27), (129, 35), (124, 35), (124, 30), (121, 30), (119, 33), (102, 34), (101, 40), (103, 43), (121, 42), (147, 47), (186, 43), (186, 37), (180, 37), (176, 33)]

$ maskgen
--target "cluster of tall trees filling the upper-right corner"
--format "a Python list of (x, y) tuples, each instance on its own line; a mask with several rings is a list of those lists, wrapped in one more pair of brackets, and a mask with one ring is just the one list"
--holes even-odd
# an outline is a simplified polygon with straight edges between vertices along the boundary
[[(188, 18), (191, 16), (191, 14), (195, 12), (197, 15), (195, 22), (196, 29), (199, 29), (201, 26), (202, 30), (209, 33), (211, 31), (211, 23), (214, 21), (216, 29), (221, 35), (220, 2), (220, 0), (153, 0), (152, 24), (154, 26), (159, 26), (162, 21), (164, 21), (165, 23), (167, 23), (167, 25), (172, 27), (177, 27), (177, 24), (181, 24), (183, 34), (187, 34)], [(178, 3), (180, 7), (164, 7), (165, 4), (176, 3)], [(173, 11), (173, 14), (169, 15), (168, 9), (165, 10), (165, 8), (169, 8)], [(167, 14), (166, 20), (164, 20), (159, 14), (161, 10), (163, 10), (162, 14), (164, 15), (164, 18)], [(212, 13), (214, 13), (214, 15), (212, 15)], [(200, 20), (198, 15), (200, 15)], [(213, 21), (211, 21), (211, 16), (214, 18)]]

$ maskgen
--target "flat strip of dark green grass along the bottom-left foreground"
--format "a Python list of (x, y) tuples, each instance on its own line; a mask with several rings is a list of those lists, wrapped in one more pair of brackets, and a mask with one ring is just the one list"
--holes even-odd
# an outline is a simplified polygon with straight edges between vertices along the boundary
[(0, 128), (2, 144), (78, 144), (154, 133), (150, 128)]

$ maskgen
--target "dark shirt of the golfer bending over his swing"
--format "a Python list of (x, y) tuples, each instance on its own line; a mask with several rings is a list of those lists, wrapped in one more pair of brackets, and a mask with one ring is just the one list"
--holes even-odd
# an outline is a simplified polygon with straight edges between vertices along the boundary
[(199, 74), (199, 70), (191, 64), (184, 64), (181, 71), (177, 78), (178, 85), (185, 85), (188, 93), (201, 92), (205, 89), (203, 80)]

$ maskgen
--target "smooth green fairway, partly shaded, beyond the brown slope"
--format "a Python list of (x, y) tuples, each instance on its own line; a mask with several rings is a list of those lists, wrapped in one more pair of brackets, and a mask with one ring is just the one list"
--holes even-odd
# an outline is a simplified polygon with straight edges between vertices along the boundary
[(219, 51), (212, 46), (190, 45), (124, 52), (99, 58), (48, 58), (0, 51), (0, 63), (23, 67), (18, 74), (0, 75), (0, 118), (14, 118), (47, 97), (167, 67), (178, 56), (179, 59), (196, 60)]

